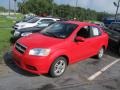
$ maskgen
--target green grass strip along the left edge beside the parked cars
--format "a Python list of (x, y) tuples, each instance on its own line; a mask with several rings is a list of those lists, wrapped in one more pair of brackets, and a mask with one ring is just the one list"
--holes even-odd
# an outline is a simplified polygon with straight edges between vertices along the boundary
[(19, 20), (21, 15), (17, 16), (17, 19), (7, 18), (6, 16), (0, 16), (0, 63), (3, 62), (3, 57), (6, 52), (11, 48), (10, 37), (13, 21)]

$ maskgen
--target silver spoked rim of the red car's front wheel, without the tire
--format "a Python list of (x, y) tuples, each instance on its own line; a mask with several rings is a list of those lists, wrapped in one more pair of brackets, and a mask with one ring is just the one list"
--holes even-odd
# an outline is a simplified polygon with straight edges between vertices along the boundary
[(59, 76), (61, 75), (65, 70), (66, 64), (64, 60), (59, 60), (54, 67), (54, 73), (55, 75)]

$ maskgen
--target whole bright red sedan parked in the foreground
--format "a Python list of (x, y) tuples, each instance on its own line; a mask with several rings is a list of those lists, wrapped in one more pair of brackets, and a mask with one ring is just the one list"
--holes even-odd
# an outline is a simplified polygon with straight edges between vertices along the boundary
[(101, 59), (107, 45), (108, 35), (97, 25), (67, 21), (19, 39), (12, 54), (20, 68), (57, 77), (69, 64), (91, 56)]

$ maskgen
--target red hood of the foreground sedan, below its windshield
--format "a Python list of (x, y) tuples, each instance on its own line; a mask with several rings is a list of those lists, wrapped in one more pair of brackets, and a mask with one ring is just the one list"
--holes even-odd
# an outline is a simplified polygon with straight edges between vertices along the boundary
[(63, 41), (64, 39), (49, 37), (40, 33), (36, 33), (27, 37), (22, 37), (17, 42), (28, 48), (50, 48), (54, 45), (60, 44)]

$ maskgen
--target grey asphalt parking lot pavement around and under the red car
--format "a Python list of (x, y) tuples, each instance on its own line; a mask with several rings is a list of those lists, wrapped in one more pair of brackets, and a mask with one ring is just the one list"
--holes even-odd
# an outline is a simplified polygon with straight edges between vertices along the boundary
[(51, 78), (18, 68), (10, 52), (0, 66), (0, 90), (120, 90), (120, 59), (107, 52), (103, 60), (89, 58), (68, 66), (64, 75)]

